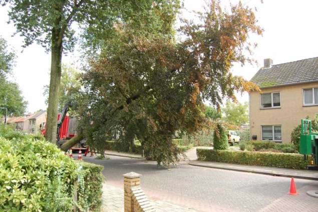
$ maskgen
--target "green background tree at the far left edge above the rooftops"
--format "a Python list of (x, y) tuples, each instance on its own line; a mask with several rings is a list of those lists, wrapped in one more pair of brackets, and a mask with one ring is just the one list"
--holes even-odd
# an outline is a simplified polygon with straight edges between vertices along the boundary
[[(0, 107), (7, 108), (9, 115), (23, 115), (27, 102), (23, 99), (18, 84), (8, 80), (8, 76), (12, 74), (14, 59), (14, 51), (0, 37)], [(0, 115), (6, 115), (6, 110), (0, 109)]]

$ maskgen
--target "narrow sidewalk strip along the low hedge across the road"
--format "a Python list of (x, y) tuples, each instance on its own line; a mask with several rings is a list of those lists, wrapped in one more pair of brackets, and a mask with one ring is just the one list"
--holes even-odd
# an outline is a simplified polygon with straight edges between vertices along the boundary
[(209, 167), (209, 168), (219, 168), (219, 169), (233, 170), (233, 171), (259, 173), (259, 174), (266, 174), (266, 175), (273, 175), (273, 176), (285, 176), (285, 177), (294, 177), (299, 179), (318, 180), (318, 171), (314, 171), (314, 170), (277, 168), (277, 167), (257, 166), (257, 165), (241, 165), (241, 164), (213, 162), (213, 161), (200, 161), (200, 160), (192, 160), (189, 162), (189, 165)]

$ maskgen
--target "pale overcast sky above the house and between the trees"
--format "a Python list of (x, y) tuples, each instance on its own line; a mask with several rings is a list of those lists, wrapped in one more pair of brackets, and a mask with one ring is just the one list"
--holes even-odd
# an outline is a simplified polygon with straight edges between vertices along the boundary
[[(228, 8), (228, 2), (238, 0), (221, 0)], [(250, 79), (263, 65), (264, 58), (272, 58), (274, 64), (318, 56), (318, 1), (317, 0), (241, 0), (250, 7), (257, 8), (256, 17), (264, 28), (263, 36), (252, 37), (258, 43), (253, 57), (258, 65), (241, 67), (234, 65), (235, 75)], [(187, 10), (202, 10), (205, 0), (185, 0)], [(37, 44), (22, 48), (23, 38), (12, 37), (15, 32), (13, 24), (7, 24), (9, 7), (0, 7), (0, 35), (17, 53), (14, 75), (20, 85), (25, 99), (29, 102), (28, 111), (46, 109), (43, 87), (49, 83), (50, 54)], [(184, 11), (188, 19), (192, 14)], [(23, 50), (23, 52), (21, 52)], [(62, 62), (75, 63), (79, 59), (78, 51), (63, 56)], [(248, 95), (237, 96), (240, 101), (247, 101)]]

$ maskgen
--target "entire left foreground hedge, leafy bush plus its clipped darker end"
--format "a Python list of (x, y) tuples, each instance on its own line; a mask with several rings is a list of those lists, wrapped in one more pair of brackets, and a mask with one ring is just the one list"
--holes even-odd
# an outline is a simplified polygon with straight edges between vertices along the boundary
[(0, 136), (0, 211), (71, 211), (76, 192), (81, 211), (100, 209), (102, 166), (80, 162), (80, 170), (43, 137), (13, 134)]

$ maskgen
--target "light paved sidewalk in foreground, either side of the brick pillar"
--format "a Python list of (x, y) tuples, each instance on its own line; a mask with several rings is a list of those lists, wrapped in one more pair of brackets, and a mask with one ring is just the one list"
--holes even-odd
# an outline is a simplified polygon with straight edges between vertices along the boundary
[[(147, 195), (147, 193), (146, 193)], [(151, 201), (156, 212), (196, 212), (194, 209), (185, 208), (166, 201)], [(103, 212), (123, 212), (124, 211), (124, 189), (107, 183), (103, 184)]]

